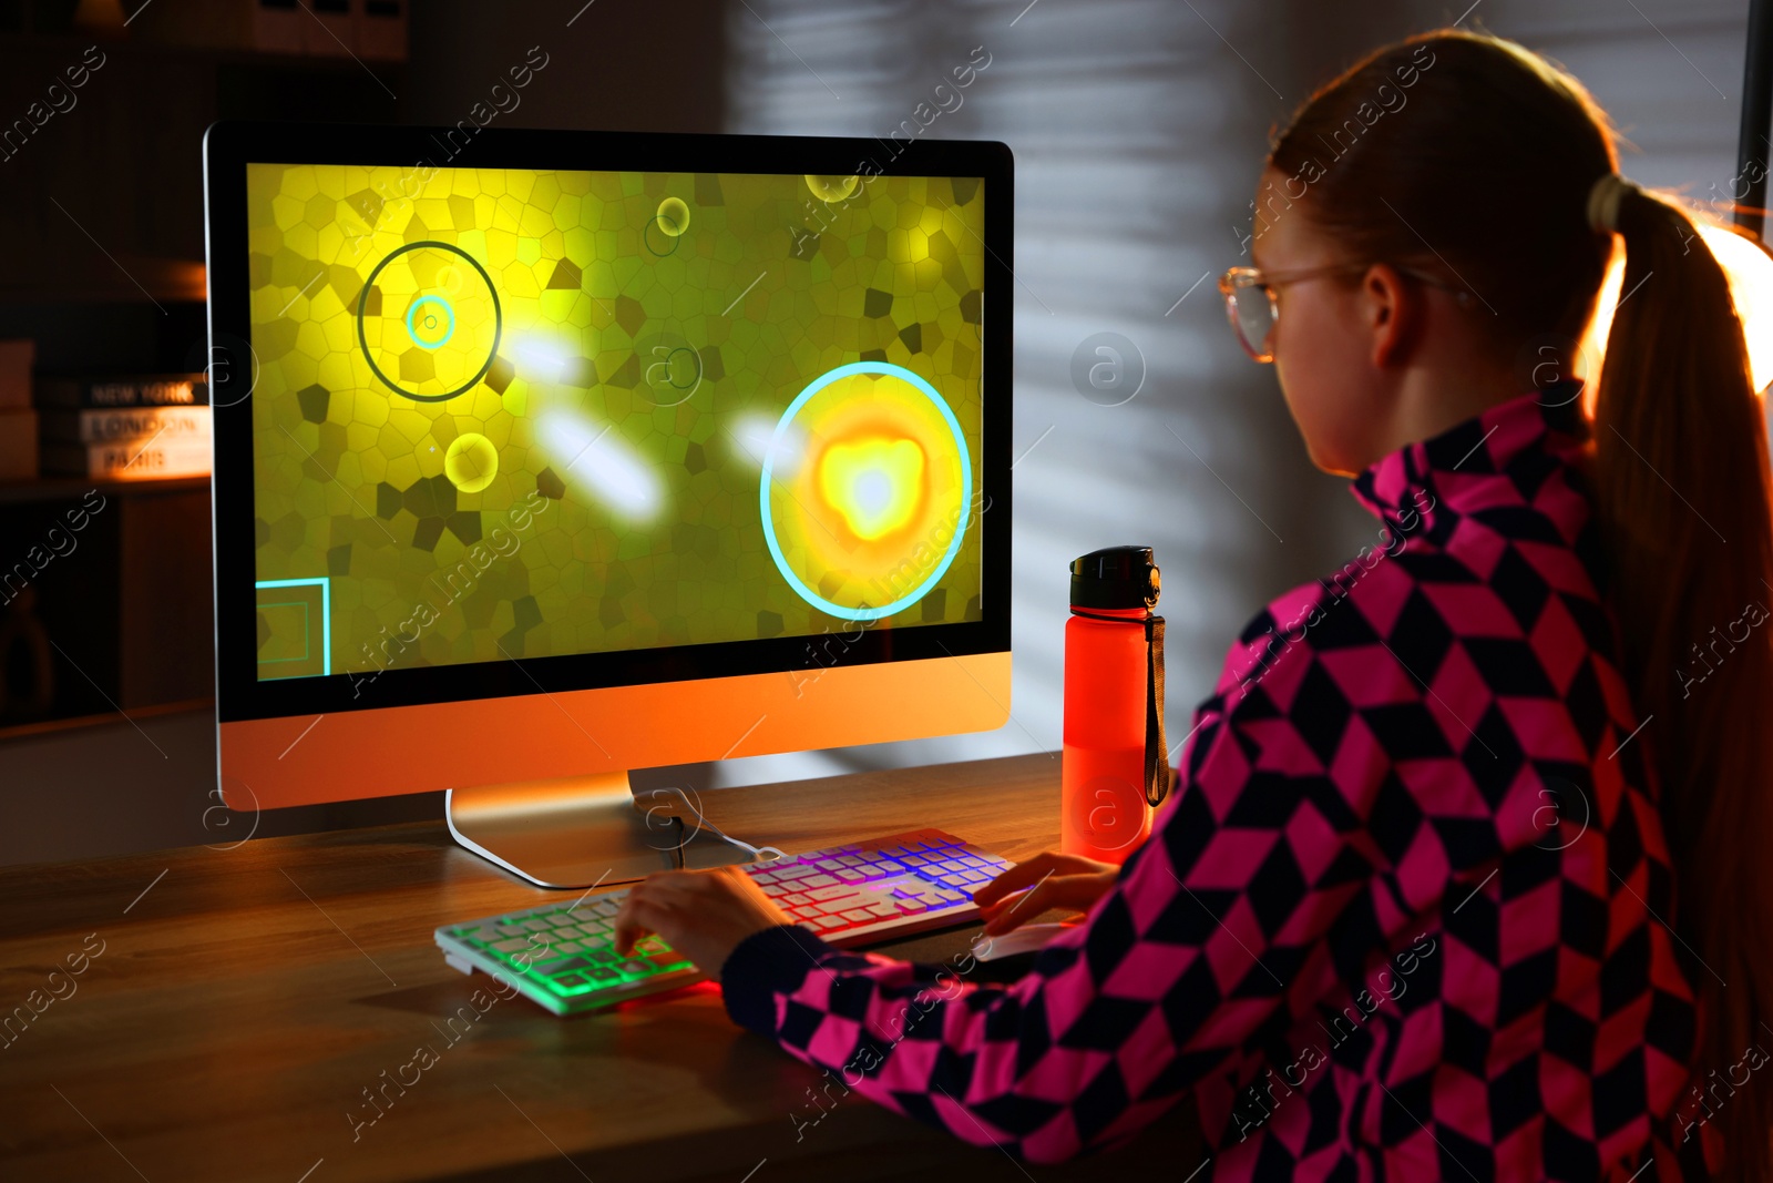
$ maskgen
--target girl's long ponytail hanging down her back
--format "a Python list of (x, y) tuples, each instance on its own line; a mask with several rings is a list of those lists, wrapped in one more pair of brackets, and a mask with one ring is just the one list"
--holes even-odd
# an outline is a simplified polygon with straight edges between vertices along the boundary
[[(1743, 328), (1693, 222), (1626, 184), (1612, 229), (1626, 298), (1594, 403), (1596, 507), (1679, 929), (1704, 961), (1704, 1089), (1773, 1038), (1773, 482)], [(1773, 1084), (1718, 1123), (1730, 1176), (1768, 1178)]]

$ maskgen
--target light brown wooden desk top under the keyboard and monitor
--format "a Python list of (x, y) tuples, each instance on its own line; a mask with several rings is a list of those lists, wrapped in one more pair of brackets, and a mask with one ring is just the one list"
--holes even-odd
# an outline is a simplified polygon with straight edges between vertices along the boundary
[[(940, 825), (1011, 858), (1058, 842), (1058, 761), (1023, 756), (729, 789), (729, 834), (784, 850)], [(0, 1015), (103, 952), (0, 1041), (0, 1176), (28, 1179), (952, 1179), (1186, 1178), (1193, 1107), (1115, 1155), (1023, 1165), (856, 1096), (816, 1126), (817, 1071), (695, 986), (560, 1020), (495, 1002), (466, 1038), (438, 924), (537, 892), (443, 823), (264, 839), (234, 850), (0, 871)], [(41, 999), (39, 999), (41, 1002)], [(470, 1007), (473, 1013), (473, 1007)], [(363, 1089), (438, 1059), (353, 1142)], [(411, 1071), (408, 1071), (411, 1078)], [(362, 1112), (371, 1112), (363, 1109)], [(759, 1165), (761, 1163), (761, 1165)]]

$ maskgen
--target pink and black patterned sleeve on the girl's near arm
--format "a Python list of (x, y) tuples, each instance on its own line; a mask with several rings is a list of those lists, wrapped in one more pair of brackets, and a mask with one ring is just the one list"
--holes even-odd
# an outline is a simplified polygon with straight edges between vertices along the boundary
[[(1262, 683), (1314, 665), (1291, 647)], [(1129, 1139), (1316, 1000), (1294, 986), (1333, 977), (1324, 936), (1374, 871), (1360, 803), (1266, 686), (1239, 681), (1197, 713), (1179, 791), (1113, 890), (1018, 983), (773, 928), (727, 960), (729, 1015), (846, 1089), (1030, 1162)]]

